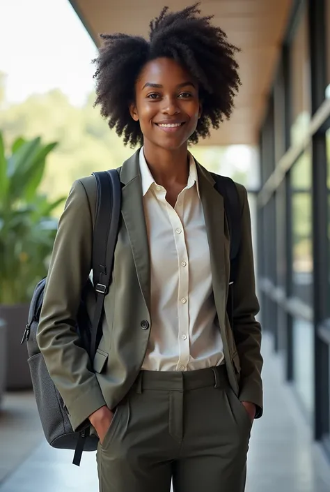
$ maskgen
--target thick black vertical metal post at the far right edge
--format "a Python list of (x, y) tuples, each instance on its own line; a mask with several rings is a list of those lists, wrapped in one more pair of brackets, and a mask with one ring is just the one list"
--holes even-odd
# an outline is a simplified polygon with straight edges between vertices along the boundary
[[(311, 50), (312, 114), (323, 103), (327, 87), (326, 31), (324, 1), (309, 2)], [(327, 149), (324, 132), (312, 137), (313, 149), (313, 257), (314, 261), (314, 328), (315, 328), (315, 413), (314, 433), (320, 440), (329, 435), (329, 349), (320, 337), (320, 326), (327, 318), (328, 238), (327, 238)], [(323, 163), (324, 165), (321, 165)], [(324, 370), (327, 368), (327, 370)]]

